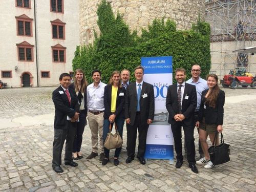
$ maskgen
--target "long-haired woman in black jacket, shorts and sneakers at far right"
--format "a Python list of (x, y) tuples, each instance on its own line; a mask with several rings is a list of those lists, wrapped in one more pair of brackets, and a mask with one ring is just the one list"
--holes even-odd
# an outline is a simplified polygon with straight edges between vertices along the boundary
[[(209, 135), (210, 141), (213, 143), (216, 132), (223, 130), (225, 93), (218, 86), (217, 75), (209, 74), (207, 84), (209, 89), (202, 92), (198, 121), (196, 122), (196, 126), (199, 127), (199, 140), (204, 152), (204, 157), (197, 161), (197, 164), (207, 163), (204, 168), (212, 168), (215, 165), (210, 161), (206, 140)], [(219, 145), (218, 136), (215, 145)]]

